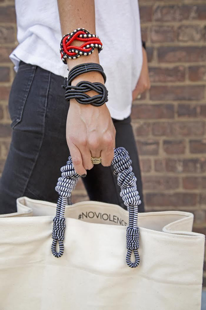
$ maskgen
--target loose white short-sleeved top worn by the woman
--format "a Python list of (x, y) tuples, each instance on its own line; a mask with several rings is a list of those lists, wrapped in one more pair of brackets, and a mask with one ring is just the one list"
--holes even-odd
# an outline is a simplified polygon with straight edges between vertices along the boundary
[[(15, 0), (15, 8), (19, 45), (10, 55), (15, 71), (22, 60), (66, 77), (67, 65), (59, 52), (62, 35), (57, 0)], [(132, 90), (142, 67), (138, 1), (95, 0), (95, 20), (96, 34), (103, 43), (99, 61), (107, 76), (107, 107), (111, 117), (124, 119), (131, 113)]]

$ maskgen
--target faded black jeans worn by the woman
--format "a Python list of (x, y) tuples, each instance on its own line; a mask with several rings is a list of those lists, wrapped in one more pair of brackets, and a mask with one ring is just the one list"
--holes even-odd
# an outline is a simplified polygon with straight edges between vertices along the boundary
[[(54, 188), (69, 155), (65, 138), (69, 104), (61, 88), (63, 80), (36, 65), (20, 62), (9, 98), (12, 140), (0, 182), (0, 214), (15, 212), (16, 199), (22, 196), (57, 201)], [(125, 147), (132, 159), (142, 201), (139, 211), (143, 212), (139, 160), (130, 121), (130, 117), (113, 119), (116, 147)], [(95, 165), (83, 181), (90, 200), (124, 207), (112, 167)]]

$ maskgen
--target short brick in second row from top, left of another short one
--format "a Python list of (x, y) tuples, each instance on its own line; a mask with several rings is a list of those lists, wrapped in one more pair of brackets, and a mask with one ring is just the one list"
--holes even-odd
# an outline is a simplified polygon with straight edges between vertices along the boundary
[(173, 26), (153, 26), (150, 32), (151, 41), (158, 42), (174, 42), (175, 30)]

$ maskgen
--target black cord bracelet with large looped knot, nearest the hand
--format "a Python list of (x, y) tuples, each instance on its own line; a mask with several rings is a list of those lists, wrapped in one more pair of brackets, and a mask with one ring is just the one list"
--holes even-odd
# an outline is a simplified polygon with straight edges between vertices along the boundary
[[(90, 97), (85, 94), (87, 91), (94, 90), (99, 95)], [(95, 107), (100, 107), (108, 101), (107, 88), (99, 82), (91, 83), (89, 81), (81, 81), (76, 86), (68, 85), (65, 87), (65, 99), (76, 99), (80, 104), (91, 104)]]

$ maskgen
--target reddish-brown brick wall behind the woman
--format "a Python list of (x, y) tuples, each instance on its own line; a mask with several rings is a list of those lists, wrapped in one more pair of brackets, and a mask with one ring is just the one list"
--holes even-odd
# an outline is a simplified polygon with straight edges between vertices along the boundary
[[(146, 210), (186, 210), (206, 234), (206, 2), (139, 0), (152, 87), (135, 100)], [(7, 102), (16, 42), (13, 1), (0, 0), (0, 169), (11, 130)], [(79, 183), (74, 201), (88, 199)], [(206, 274), (204, 285), (206, 285)]]

